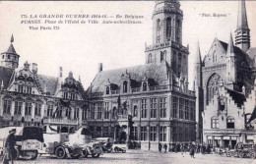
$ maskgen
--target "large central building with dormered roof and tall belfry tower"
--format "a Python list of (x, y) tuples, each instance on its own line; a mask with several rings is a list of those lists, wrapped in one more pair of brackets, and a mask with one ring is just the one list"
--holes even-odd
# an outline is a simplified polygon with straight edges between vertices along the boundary
[[(159, 142), (195, 141), (195, 93), (188, 89), (188, 49), (182, 45), (182, 11), (176, 0), (156, 2), (153, 45), (146, 64), (102, 71), (88, 88), (93, 137)], [(133, 126), (129, 123), (134, 122)]]

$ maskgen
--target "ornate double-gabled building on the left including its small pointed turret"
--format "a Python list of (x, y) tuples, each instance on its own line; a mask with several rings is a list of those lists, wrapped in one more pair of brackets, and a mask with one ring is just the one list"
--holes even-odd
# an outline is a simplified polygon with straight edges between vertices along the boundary
[(62, 68), (59, 77), (37, 74), (34, 63), (17, 68), (19, 55), (13, 41), (12, 36), (0, 66), (1, 127), (51, 125), (67, 132), (85, 126), (87, 101), (81, 82), (72, 73), (63, 82)]

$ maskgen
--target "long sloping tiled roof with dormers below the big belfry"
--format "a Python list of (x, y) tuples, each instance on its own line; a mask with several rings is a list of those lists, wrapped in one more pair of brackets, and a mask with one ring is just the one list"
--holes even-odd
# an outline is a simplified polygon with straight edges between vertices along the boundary
[(128, 73), (132, 87), (139, 87), (145, 78), (149, 85), (168, 84), (168, 65), (165, 62), (160, 64), (151, 63), (134, 67), (121, 68), (116, 70), (102, 71), (97, 73), (94, 82), (92, 82), (93, 92), (103, 92), (105, 86), (110, 83), (121, 85), (122, 75)]

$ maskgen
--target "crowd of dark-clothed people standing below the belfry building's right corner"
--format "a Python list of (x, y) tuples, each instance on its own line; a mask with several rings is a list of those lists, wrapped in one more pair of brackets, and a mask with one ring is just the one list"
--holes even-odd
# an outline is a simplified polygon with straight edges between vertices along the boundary
[[(164, 149), (164, 153), (167, 153), (167, 144), (163, 143), (163, 145), (161, 143), (159, 143), (159, 151), (161, 153), (161, 148), (163, 147)], [(210, 153), (211, 152), (211, 145), (207, 144), (207, 143), (196, 143), (196, 144), (192, 144), (192, 143), (169, 143), (169, 148), (168, 151), (172, 151), (172, 152), (181, 152), (181, 154), (183, 155), (184, 152), (188, 152), (192, 158), (194, 158), (195, 153)]]

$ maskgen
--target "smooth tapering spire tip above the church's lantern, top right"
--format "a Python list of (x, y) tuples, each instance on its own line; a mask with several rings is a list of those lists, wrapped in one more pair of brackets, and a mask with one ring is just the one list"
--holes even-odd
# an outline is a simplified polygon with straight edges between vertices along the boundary
[(247, 22), (247, 15), (246, 15), (245, 0), (240, 0), (238, 5), (236, 30), (247, 29), (247, 28), (248, 28), (248, 22)]

